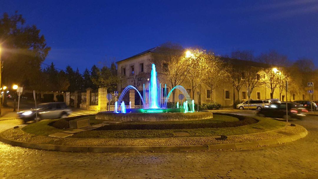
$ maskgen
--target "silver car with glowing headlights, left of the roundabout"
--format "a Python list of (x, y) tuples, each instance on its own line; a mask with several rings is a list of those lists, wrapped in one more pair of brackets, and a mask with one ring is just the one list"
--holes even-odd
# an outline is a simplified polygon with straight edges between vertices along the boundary
[(37, 106), (37, 110), (30, 109), (18, 112), (19, 118), (24, 121), (34, 120), (36, 113), (39, 119), (65, 118), (72, 113), (72, 109), (66, 106), (64, 102), (42, 103)]

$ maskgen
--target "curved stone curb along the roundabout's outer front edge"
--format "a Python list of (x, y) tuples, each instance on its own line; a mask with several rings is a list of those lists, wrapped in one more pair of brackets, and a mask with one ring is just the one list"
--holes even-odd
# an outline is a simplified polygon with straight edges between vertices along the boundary
[(294, 134), (291, 136), (281, 137), (278, 139), (269, 139), (263, 141), (251, 141), (242, 143), (230, 143), (230, 144), (216, 144), (216, 145), (195, 145), (195, 146), (126, 146), (126, 147), (103, 147), (103, 146), (62, 146), (52, 144), (37, 144), (16, 141), (6, 138), (3, 133), (0, 134), (0, 141), (19, 147), (40, 149), (40, 150), (51, 150), (51, 151), (62, 151), (62, 152), (181, 152), (181, 151), (207, 151), (207, 150), (229, 150), (229, 149), (248, 149), (256, 148), (268, 145), (283, 144), (287, 142), (296, 141), (304, 138), (308, 135), (308, 131), (304, 128), (304, 131)]

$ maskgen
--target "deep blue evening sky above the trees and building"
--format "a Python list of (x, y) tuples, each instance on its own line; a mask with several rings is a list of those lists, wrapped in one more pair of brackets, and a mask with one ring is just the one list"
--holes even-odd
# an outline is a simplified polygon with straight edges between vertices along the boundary
[[(318, 0), (81, 1), (0, 0), (0, 13), (23, 15), (52, 47), (45, 63), (82, 72), (166, 41), (216, 54), (275, 49), (318, 65)], [(116, 57), (116, 60), (111, 58)], [(111, 60), (110, 60), (111, 59)], [(102, 65), (100, 64), (100, 66)]]

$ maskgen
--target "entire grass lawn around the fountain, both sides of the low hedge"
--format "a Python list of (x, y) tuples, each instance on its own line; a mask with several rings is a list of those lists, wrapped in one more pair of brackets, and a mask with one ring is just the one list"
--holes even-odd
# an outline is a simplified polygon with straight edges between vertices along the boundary
[[(95, 116), (88, 116), (83, 118), (90, 118), (91, 125), (102, 123), (103, 120), (96, 120)], [(174, 132), (188, 132), (193, 137), (208, 137), (218, 135), (239, 135), (250, 134), (257, 132), (265, 132), (274, 130), (285, 126), (285, 122), (273, 120), (271, 118), (255, 117), (259, 122), (239, 126), (239, 127), (225, 127), (225, 128), (197, 128), (197, 129), (170, 129), (170, 130), (90, 130), (74, 134), (73, 138), (163, 138), (176, 137)], [(41, 120), (37, 123), (29, 124), (22, 128), (24, 132), (36, 135), (47, 136), (56, 132), (62, 132), (67, 129), (57, 129), (48, 124), (57, 121)], [(212, 119), (206, 120), (189, 120), (189, 121), (156, 121), (156, 122), (123, 122), (126, 124), (140, 124), (140, 123), (157, 123), (157, 124), (173, 124), (173, 123), (211, 123), (211, 122), (229, 122), (238, 121), (237, 118), (225, 115), (213, 115)]]

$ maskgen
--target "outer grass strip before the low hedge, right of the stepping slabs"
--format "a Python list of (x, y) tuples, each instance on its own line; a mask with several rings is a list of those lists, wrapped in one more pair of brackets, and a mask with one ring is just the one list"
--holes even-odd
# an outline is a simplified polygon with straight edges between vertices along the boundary
[[(222, 115), (214, 115), (215, 118)], [(222, 116), (230, 117), (230, 116)], [(176, 137), (174, 132), (188, 132), (192, 137), (208, 137), (219, 135), (239, 135), (265, 132), (285, 126), (285, 122), (273, 120), (271, 118), (255, 117), (259, 122), (226, 128), (198, 128), (198, 129), (175, 129), (175, 130), (92, 130), (74, 134), (73, 138), (164, 138)], [(169, 121), (171, 122), (171, 121)]]

